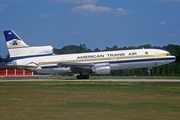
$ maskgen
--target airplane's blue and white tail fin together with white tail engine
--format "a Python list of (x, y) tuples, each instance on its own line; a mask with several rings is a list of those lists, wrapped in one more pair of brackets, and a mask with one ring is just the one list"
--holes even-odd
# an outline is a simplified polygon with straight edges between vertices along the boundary
[(11, 57), (32, 57), (52, 55), (52, 46), (28, 46), (14, 31), (4, 31), (8, 52)]

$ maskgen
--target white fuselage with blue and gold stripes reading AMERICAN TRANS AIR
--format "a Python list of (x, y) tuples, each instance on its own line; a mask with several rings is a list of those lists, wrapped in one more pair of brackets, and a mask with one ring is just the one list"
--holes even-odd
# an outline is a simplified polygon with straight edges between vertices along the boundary
[[(20, 56), (7, 61), (9, 66), (18, 66), (40, 73), (72, 72), (71, 67), (59, 66), (61, 62), (93, 63), (95, 66), (108, 64), (110, 70), (148, 68), (175, 61), (175, 56), (159, 49), (134, 49), (105, 52), (90, 52), (47, 56)], [(78, 67), (78, 66), (76, 66)], [(82, 68), (82, 66), (79, 66)], [(89, 68), (83, 68), (89, 69)]]

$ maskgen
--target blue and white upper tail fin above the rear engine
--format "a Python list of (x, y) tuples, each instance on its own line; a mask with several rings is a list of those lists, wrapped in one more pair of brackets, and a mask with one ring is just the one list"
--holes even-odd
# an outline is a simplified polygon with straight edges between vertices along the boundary
[(4, 31), (6, 44), (9, 48), (27, 47), (28, 45), (12, 30)]

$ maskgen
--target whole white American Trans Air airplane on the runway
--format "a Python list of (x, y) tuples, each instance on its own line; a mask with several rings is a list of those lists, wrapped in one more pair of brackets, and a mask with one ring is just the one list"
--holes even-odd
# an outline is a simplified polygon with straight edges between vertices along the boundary
[(29, 46), (13, 30), (4, 31), (10, 67), (38, 73), (78, 73), (77, 79), (90, 74), (110, 74), (111, 70), (152, 68), (171, 63), (176, 57), (160, 49), (132, 49), (56, 55), (52, 46)]

